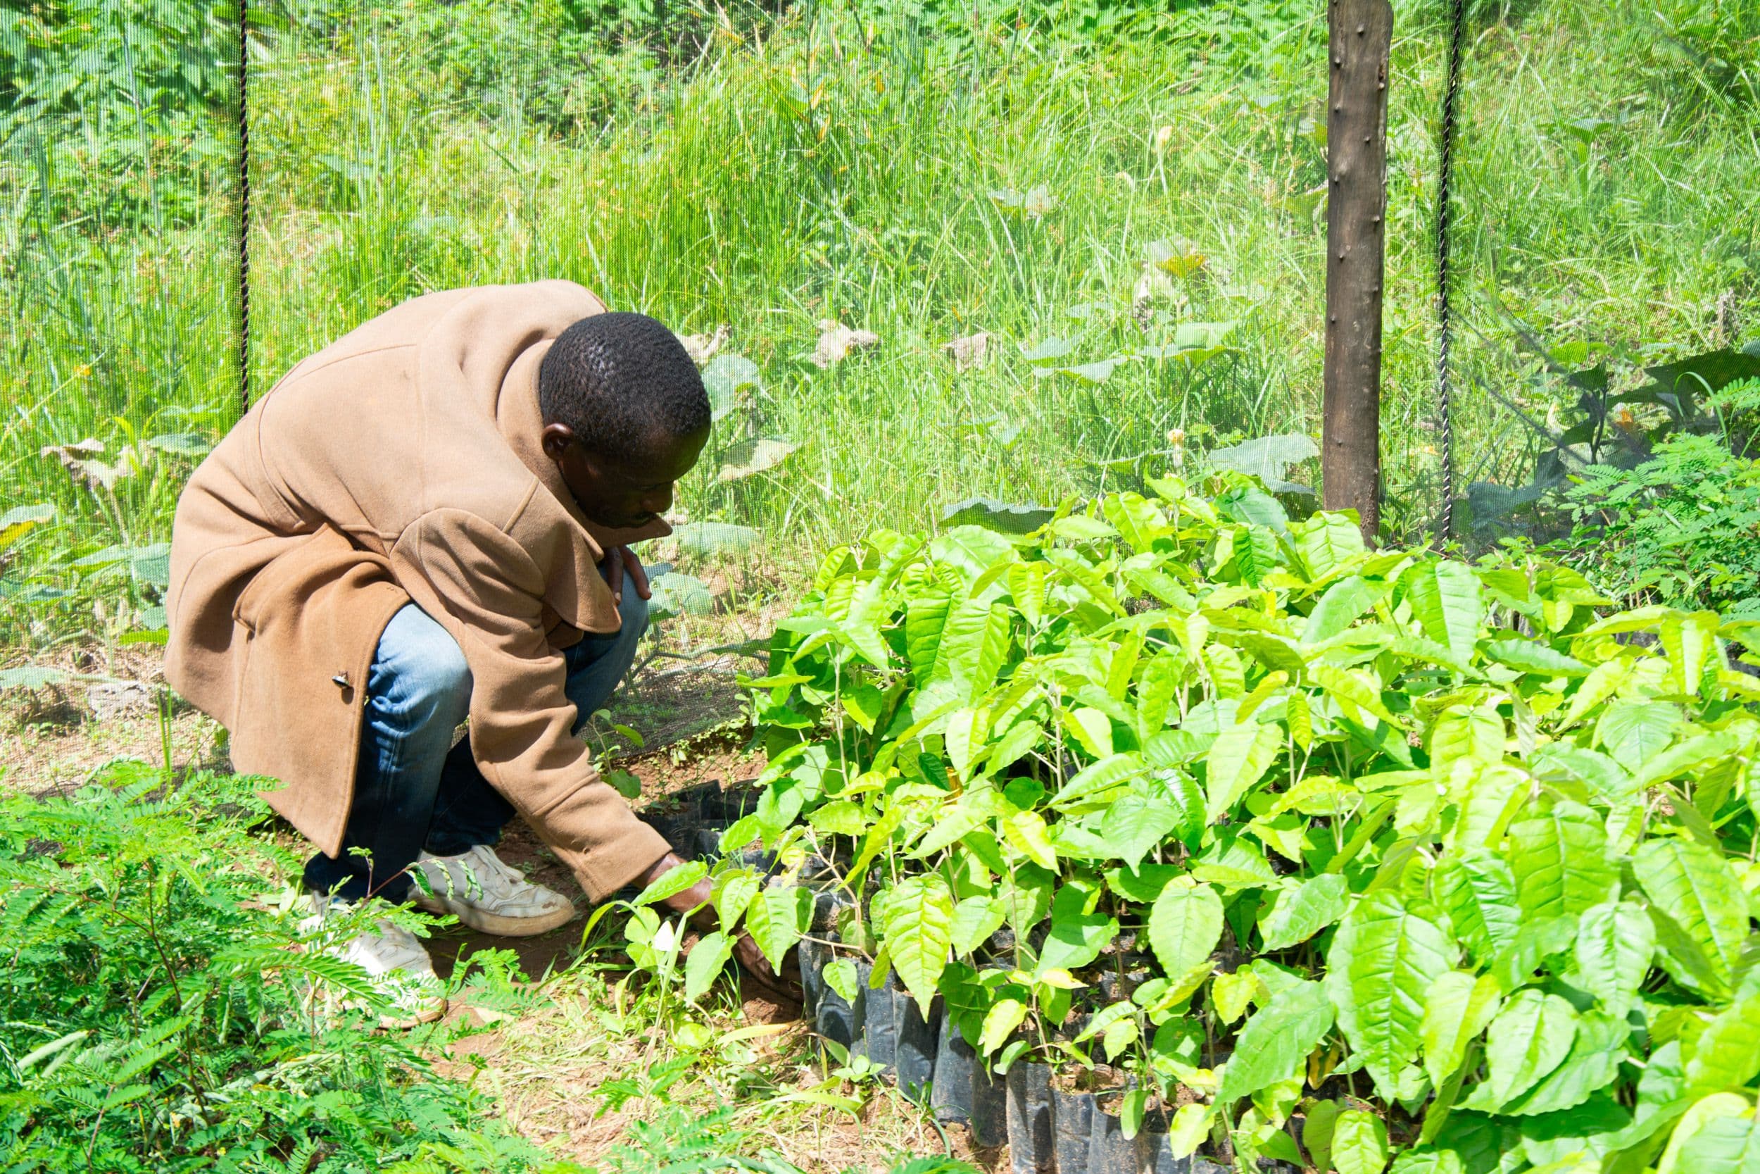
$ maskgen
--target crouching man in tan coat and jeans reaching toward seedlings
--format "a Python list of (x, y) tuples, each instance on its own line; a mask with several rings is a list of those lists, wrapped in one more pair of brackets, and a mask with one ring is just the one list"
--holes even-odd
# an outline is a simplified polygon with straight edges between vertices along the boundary
[[(375, 898), (486, 933), (561, 926), (568, 898), (495, 854), (514, 815), (595, 901), (683, 862), (577, 730), (648, 621), (630, 544), (669, 533), (708, 435), (665, 326), (535, 282), (382, 313), (202, 461), (172, 528), (165, 678), (225, 725), (239, 771), (282, 781), (266, 797), (319, 850), (317, 917)], [(700, 882), (667, 905), (708, 898)], [(377, 924), (343, 954), (391, 1021), (444, 1014), (421, 940)], [(748, 938), (736, 956), (774, 980)]]

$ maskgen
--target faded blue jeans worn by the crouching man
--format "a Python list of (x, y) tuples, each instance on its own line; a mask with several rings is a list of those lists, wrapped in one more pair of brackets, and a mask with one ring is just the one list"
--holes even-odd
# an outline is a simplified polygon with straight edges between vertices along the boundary
[[(630, 583), (621, 613), (620, 632), (588, 632), (561, 653), (576, 732), (630, 671), (635, 644), (648, 628), (648, 602)], [(470, 737), (452, 745), (468, 713), (470, 667), (458, 641), (422, 609), (403, 607), (378, 637), (368, 672), (341, 855), (313, 855), (304, 869), (308, 889), (350, 901), (364, 896), (405, 901), (414, 887), (407, 869), (422, 848), (458, 855), (500, 841), (514, 804), (477, 769)]]

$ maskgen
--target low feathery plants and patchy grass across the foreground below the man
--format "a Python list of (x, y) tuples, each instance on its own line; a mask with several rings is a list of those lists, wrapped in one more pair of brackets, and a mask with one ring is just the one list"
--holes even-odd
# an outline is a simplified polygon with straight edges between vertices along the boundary
[[(317, 952), (297, 926), (283, 878), (299, 861), (262, 834), (257, 781), (167, 780), (120, 762), (72, 796), (0, 799), (0, 1169), (801, 1174), (825, 1169), (810, 1156), (806, 1118), (859, 1109), (866, 1093), (852, 1079), (876, 1091), (866, 1072), (794, 1088), (792, 1053), (760, 1061), (753, 1049), (773, 1028), (737, 1030), (702, 1010), (685, 1028), (656, 1010), (653, 991), (612, 996), (600, 972), (627, 973), (627, 963), (598, 942), (537, 984), (512, 950), (470, 952), (449, 991), (470, 1007), (463, 1019), (377, 1030), (366, 975)], [(394, 917), (422, 935), (433, 926), (408, 910)], [(472, 1056), (472, 1037), (495, 1030), (509, 1038), (493, 1054), (509, 1063), (528, 1046), (524, 1021), (544, 1023), (530, 1040), (544, 1072), (588, 1049), (646, 1049), (600, 1072), (584, 1105), (561, 1107), (576, 1123), (583, 1109), (630, 1118), (591, 1165), (510, 1130), (502, 1102), (521, 1095), (517, 1074)], [(667, 1028), (658, 1054), (644, 1044), (656, 1023)], [(433, 1061), (442, 1054), (445, 1074)], [(544, 1119), (542, 1105), (526, 1107), (533, 1116)], [(970, 1169), (891, 1156), (899, 1151), (889, 1137), (901, 1174)]]

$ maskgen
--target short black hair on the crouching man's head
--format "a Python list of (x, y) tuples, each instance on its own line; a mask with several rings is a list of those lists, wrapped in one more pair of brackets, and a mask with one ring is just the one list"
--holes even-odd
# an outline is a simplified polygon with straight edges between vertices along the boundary
[(709, 393), (685, 343), (646, 313), (595, 313), (551, 343), (539, 364), (539, 410), (591, 452), (646, 456), (704, 431)]

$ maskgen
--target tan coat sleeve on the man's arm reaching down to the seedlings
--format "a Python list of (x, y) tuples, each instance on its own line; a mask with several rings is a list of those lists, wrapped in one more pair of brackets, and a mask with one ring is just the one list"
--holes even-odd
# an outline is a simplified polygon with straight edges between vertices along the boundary
[(574, 736), (567, 667), (542, 628), (544, 577), (505, 532), (468, 510), (433, 510), (398, 540), (470, 665), (470, 746), (489, 783), (598, 901), (669, 850), (598, 778)]

